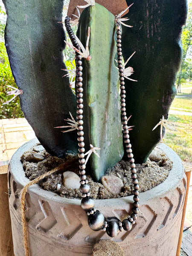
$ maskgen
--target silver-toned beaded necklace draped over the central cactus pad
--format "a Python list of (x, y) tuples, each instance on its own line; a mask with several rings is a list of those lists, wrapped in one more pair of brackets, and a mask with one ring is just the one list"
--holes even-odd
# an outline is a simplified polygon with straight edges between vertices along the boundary
[[(119, 221), (105, 221), (104, 215), (94, 208), (94, 200), (90, 197), (90, 186), (87, 181), (86, 172), (85, 172), (85, 158), (84, 158), (84, 131), (83, 131), (83, 78), (82, 78), (82, 57), (78, 52), (76, 52), (76, 100), (77, 100), (77, 134), (78, 134), (78, 145), (79, 145), (79, 175), (80, 175), (80, 191), (82, 193), (81, 208), (84, 209), (88, 215), (88, 225), (92, 230), (106, 231), (108, 236), (116, 237), (120, 231), (131, 230), (132, 226), (135, 224), (137, 219), (137, 213), (139, 212), (139, 185), (137, 180), (137, 170), (135, 169), (134, 158), (132, 154), (131, 144), (129, 140), (129, 131), (127, 125), (127, 116), (125, 108), (125, 82), (124, 82), (124, 69), (122, 66), (122, 49), (121, 49), (121, 27), (119, 25), (120, 15), (115, 16), (116, 23), (116, 46), (117, 46), (117, 63), (119, 69), (119, 81), (120, 81), (120, 97), (121, 97), (121, 118), (122, 118), (122, 128), (123, 128), (123, 138), (126, 146), (126, 152), (128, 153), (128, 158), (131, 167), (131, 178), (134, 184), (134, 203), (132, 207), (132, 213), (122, 222)], [(65, 27), (67, 33), (70, 37), (70, 40), (73, 44), (73, 47), (76, 47), (78, 50), (81, 48), (76, 41), (73, 30), (70, 27), (70, 17), (65, 18)]]

